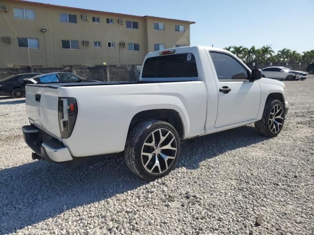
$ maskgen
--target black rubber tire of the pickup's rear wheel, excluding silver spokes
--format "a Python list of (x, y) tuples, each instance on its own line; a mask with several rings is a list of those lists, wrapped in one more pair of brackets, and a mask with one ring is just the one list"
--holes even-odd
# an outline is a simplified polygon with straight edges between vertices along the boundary
[[(161, 158), (161, 155), (162, 155), (161, 152), (159, 152), (160, 154), (155, 154), (155, 156), (153, 156), (151, 159), (147, 160), (146, 165), (153, 165), (152, 170), (156, 169), (156, 167), (157, 167), (157, 166), (154, 167), (156, 162), (155, 162), (155, 164), (150, 164), (151, 162), (154, 163), (154, 158), (155, 159), (157, 158), (160, 161), (160, 165), (161, 164), (163, 164), (164, 166), (167, 165), (167, 169), (165, 171), (163, 171), (162, 173), (158, 173), (158, 172), (157, 173), (156, 172), (150, 173), (144, 166), (143, 158), (145, 158), (145, 154), (142, 155), (142, 150), (146, 146), (146, 145), (144, 145), (144, 142), (148, 141), (148, 138), (152, 137), (151, 135), (155, 135), (154, 138), (157, 138), (156, 134), (154, 134), (154, 131), (156, 133), (158, 131), (158, 129), (161, 129), (162, 131), (170, 131), (171, 138), (172, 137), (175, 138), (174, 143), (175, 143), (176, 151), (175, 150), (162, 149), (161, 145), (159, 145), (157, 147), (148, 146), (149, 148), (155, 149), (152, 151), (152, 153), (155, 153), (155, 151), (157, 151), (156, 149), (158, 147), (159, 147), (158, 151), (164, 150), (163, 153), (165, 152), (165, 150), (166, 151), (175, 151), (175, 153), (172, 152), (174, 159), (171, 159), (171, 161), (170, 161), (171, 164), (169, 162), (169, 165), (168, 165), (168, 161), (170, 159), (168, 159), (167, 161), (164, 161), (163, 158)], [(170, 134), (168, 135), (168, 137), (170, 137)], [(157, 139), (155, 139), (155, 140), (157, 142)], [(166, 141), (166, 140), (167, 139), (165, 139), (164, 141)], [(152, 141), (152, 143), (153, 142), (154, 141)], [(172, 142), (173, 141), (170, 141), (170, 145), (173, 144)], [(159, 141), (159, 143), (160, 143), (160, 141)], [(151, 151), (149, 151), (149, 152), (151, 152)], [(131, 171), (133, 173), (135, 173), (136, 175), (140, 176), (141, 178), (143, 178), (145, 180), (153, 181), (157, 178), (163, 177), (164, 175), (168, 174), (173, 169), (173, 167), (175, 166), (179, 155), (180, 155), (180, 138), (179, 138), (179, 135), (178, 135), (176, 129), (171, 124), (169, 124), (168, 122), (165, 122), (165, 121), (148, 120), (148, 121), (140, 122), (131, 130), (131, 132), (128, 135), (128, 139), (126, 141), (125, 158), (126, 158), (127, 165), (129, 166), (129, 168), (131, 169)], [(148, 156), (147, 156), (147, 158), (148, 158)], [(165, 164), (165, 162), (167, 162), (167, 163)], [(161, 166), (157, 167), (159, 172), (161, 172), (160, 168), (161, 168)]]

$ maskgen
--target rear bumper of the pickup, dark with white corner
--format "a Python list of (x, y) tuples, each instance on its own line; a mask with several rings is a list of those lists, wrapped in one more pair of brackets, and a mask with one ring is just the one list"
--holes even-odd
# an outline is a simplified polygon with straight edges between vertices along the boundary
[(33, 125), (22, 127), (24, 141), (39, 156), (48, 162), (72, 161), (73, 157), (62, 142)]

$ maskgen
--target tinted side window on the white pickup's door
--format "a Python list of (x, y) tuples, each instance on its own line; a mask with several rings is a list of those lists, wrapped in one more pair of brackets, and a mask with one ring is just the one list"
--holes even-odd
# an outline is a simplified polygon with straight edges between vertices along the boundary
[(232, 56), (220, 52), (209, 51), (219, 80), (245, 80), (248, 71)]

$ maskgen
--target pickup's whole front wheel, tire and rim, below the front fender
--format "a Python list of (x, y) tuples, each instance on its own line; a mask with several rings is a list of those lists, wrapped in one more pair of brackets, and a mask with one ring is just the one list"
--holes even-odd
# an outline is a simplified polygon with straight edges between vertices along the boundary
[(285, 107), (278, 99), (267, 99), (262, 119), (255, 122), (257, 131), (269, 137), (276, 137), (285, 122)]

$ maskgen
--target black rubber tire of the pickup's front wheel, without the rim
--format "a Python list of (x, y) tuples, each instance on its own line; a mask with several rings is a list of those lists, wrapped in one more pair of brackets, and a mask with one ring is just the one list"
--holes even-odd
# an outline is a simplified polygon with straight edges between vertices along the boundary
[[(272, 109), (276, 105), (279, 105), (281, 107), (283, 119), (282, 119), (282, 124), (281, 124), (280, 128), (278, 128), (279, 130), (276, 131), (276, 128), (275, 128), (276, 132), (274, 133), (271, 130), (271, 124), (269, 122), (269, 119), (271, 116), (270, 112), (272, 111)], [(284, 123), (285, 123), (285, 107), (284, 107), (283, 103), (278, 99), (267, 99), (266, 103), (265, 103), (262, 119), (255, 122), (255, 128), (260, 134), (262, 134), (264, 136), (276, 137), (281, 132), (281, 130), (284, 126)]]

